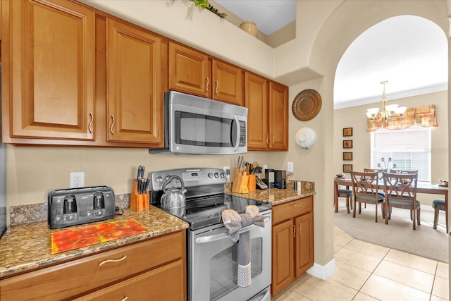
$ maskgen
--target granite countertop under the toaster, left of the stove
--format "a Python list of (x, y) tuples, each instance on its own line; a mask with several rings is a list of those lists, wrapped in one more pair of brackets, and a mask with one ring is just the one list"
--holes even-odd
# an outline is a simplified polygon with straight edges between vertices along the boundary
[[(189, 226), (187, 222), (153, 206), (145, 211), (132, 211), (131, 209), (123, 209), (123, 211), (123, 215), (106, 221), (133, 218), (146, 227), (148, 232), (58, 254), (51, 254), (51, 233), (63, 229), (49, 229), (47, 220), (8, 227), (0, 239), (0, 278), (154, 238), (186, 229)], [(86, 226), (86, 224), (80, 226)]]

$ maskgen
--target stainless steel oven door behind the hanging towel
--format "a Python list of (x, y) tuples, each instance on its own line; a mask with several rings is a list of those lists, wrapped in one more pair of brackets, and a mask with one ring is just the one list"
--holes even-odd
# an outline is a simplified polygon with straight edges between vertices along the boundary
[(265, 226), (242, 228), (251, 240), (251, 285), (237, 286), (238, 245), (222, 224), (190, 231), (189, 300), (249, 300), (271, 285), (271, 211)]

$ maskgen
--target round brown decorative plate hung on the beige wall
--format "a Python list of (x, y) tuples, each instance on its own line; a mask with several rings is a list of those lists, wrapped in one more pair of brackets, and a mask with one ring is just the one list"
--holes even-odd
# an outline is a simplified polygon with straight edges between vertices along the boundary
[(293, 100), (293, 115), (300, 121), (309, 121), (321, 110), (321, 95), (313, 89), (299, 92)]

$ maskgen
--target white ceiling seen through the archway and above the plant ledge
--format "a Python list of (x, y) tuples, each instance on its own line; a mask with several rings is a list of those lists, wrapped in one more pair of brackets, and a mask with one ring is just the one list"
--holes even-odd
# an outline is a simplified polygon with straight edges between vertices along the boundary
[[(296, 18), (295, 0), (215, 0), (271, 35)], [(335, 73), (334, 108), (447, 90), (447, 39), (435, 23), (397, 16), (370, 27), (350, 44)]]

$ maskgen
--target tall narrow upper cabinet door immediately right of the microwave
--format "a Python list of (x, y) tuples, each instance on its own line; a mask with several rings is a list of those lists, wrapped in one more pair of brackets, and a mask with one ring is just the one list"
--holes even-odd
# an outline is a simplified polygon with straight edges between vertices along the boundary
[(245, 106), (247, 107), (247, 149), (268, 148), (268, 82), (245, 73)]

